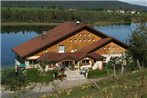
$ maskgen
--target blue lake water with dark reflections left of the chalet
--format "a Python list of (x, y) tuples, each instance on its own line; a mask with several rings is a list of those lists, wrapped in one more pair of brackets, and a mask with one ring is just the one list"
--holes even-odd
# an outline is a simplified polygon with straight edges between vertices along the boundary
[(2, 68), (14, 66), (12, 48), (48, 31), (54, 26), (2, 26), (1, 28), (1, 62)]

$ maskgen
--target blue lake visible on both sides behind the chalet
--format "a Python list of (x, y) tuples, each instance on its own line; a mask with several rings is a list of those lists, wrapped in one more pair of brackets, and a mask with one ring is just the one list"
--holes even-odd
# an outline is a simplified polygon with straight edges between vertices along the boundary
[[(95, 29), (126, 42), (137, 24), (94, 26)], [(47, 31), (53, 26), (2, 26), (1, 27), (1, 64), (2, 68), (14, 67), (14, 53), (12, 48)]]

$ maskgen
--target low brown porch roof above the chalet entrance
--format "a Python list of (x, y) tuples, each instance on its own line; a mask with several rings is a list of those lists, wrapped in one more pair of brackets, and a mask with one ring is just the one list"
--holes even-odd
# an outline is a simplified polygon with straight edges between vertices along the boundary
[(55, 62), (60, 62), (64, 60), (74, 60), (74, 61), (79, 61), (85, 57), (90, 57), (94, 60), (102, 60), (104, 57), (97, 54), (97, 53), (90, 53), (90, 54), (85, 54), (81, 52), (76, 52), (76, 53), (46, 53), (44, 55), (41, 55), (39, 57), (39, 60), (41, 61), (55, 61)]

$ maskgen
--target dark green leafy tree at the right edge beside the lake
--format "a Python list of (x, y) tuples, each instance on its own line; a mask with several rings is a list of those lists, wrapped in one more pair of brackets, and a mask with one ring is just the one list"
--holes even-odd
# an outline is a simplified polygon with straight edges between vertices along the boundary
[(147, 67), (147, 25), (140, 25), (132, 31), (129, 37), (129, 54), (133, 61), (141, 70), (142, 67)]

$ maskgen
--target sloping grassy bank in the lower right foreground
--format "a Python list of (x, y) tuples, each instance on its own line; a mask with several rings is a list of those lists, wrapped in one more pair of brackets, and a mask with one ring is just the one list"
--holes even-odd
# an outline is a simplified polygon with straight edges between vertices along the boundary
[(147, 69), (59, 90), (40, 98), (147, 98)]

